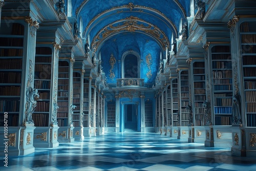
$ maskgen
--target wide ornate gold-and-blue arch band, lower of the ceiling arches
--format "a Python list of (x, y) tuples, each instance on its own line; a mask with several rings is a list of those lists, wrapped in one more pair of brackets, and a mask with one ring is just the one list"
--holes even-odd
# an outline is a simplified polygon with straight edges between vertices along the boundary
[(101, 29), (97, 35), (92, 40), (92, 47), (94, 47), (94, 52), (96, 52), (99, 45), (106, 38), (122, 32), (142, 32), (154, 37), (162, 46), (163, 49), (165, 47), (170, 47), (170, 42), (165, 33), (160, 30), (157, 26), (152, 25), (151, 23), (147, 23), (145, 20), (130, 16), (125, 19), (117, 20), (108, 26)]

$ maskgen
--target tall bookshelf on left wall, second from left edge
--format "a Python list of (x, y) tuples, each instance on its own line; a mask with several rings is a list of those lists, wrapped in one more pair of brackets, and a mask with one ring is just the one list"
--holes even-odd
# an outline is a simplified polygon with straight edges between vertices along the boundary
[(38, 90), (39, 99), (32, 115), (35, 126), (49, 126), (51, 97), (52, 49), (36, 47), (34, 88)]

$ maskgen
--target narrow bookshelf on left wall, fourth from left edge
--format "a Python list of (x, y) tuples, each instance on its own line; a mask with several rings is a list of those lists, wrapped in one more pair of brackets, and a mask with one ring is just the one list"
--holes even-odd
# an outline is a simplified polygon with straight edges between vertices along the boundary
[(73, 104), (76, 108), (73, 111), (73, 126), (80, 127), (80, 102), (81, 102), (81, 74), (73, 72)]

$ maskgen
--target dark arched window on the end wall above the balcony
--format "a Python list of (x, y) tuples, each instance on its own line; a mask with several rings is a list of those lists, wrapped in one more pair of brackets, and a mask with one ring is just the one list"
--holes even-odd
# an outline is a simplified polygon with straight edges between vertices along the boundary
[(123, 54), (122, 78), (140, 78), (140, 57), (137, 52), (127, 51)]

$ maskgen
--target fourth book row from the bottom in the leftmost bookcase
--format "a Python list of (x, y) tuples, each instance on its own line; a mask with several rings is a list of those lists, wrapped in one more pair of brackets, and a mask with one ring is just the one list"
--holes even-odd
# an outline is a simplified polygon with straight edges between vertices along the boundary
[(21, 83), (22, 73), (19, 72), (0, 72), (0, 83)]

